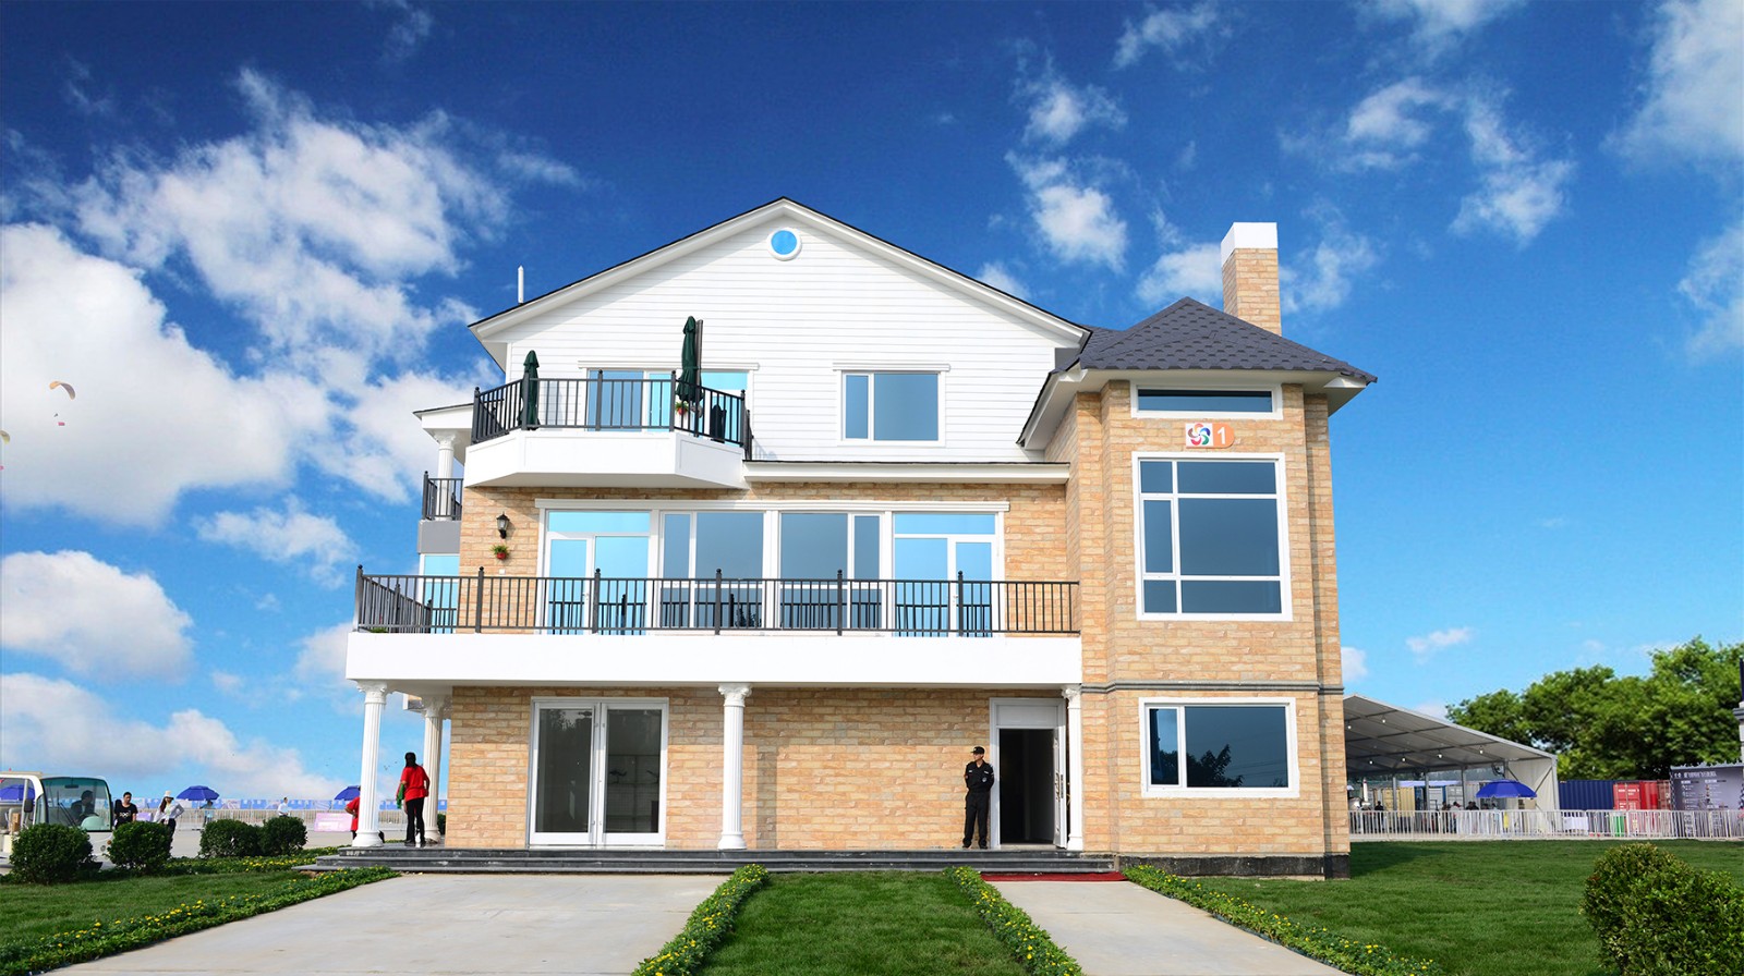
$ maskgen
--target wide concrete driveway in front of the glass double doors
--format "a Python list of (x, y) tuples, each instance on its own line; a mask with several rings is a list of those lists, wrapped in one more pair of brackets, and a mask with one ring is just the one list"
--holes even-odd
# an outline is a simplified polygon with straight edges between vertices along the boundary
[(724, 877), (403, 875), (65, 973), (623, 976)]

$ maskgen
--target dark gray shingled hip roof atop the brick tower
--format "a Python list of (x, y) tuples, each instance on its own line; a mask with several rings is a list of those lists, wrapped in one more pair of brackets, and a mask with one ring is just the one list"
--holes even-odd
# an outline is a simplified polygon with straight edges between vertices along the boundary
[(1315, 352), (1252, 322), (1182, 298), (1128, 329), (1087, 326), (1078, 352), (1087, 369), (1282, 369), (1339, 373), (1364, 383), (1374, 376), (1343, 359)]

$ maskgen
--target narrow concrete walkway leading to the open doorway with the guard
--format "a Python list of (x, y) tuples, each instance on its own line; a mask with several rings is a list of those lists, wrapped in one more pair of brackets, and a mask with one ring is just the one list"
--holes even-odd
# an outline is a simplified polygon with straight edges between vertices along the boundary
[(1339, 976), (1130, 882), (992, 882), (1085, 976)]

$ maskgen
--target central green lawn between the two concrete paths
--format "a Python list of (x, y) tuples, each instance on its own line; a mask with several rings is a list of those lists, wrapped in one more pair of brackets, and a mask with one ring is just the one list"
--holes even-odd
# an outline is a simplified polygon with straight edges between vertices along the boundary
[(705, 976), (1022, 976), (944, 873), (771, 875)]

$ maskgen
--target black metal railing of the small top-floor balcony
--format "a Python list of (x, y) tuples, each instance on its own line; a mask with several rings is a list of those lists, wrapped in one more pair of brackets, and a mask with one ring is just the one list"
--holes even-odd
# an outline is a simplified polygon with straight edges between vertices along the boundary
[(752, 422), (741, 394), (696, 387), (678, 399), (678, 376), (656, 380), (514, 380), (473, 390), (473, 443), (509, 430), (680, 430), (750, 455)]

